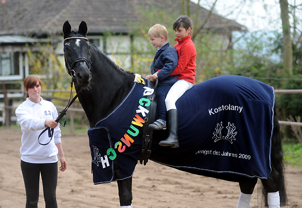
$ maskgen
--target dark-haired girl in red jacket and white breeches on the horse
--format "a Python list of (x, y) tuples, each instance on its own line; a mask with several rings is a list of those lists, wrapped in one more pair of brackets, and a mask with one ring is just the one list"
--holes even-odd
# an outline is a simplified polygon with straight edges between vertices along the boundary
[(173, 24), (174, 39), (178, 43), (174, 48), (178, 52), (178, 64), (175, 70), (170, 74), (177, 75), (177, 82), (170, 88), (165, 99), (168, 111), (168, 129), (169, 137), (160, 141), (161, 146), (179, 147), (178, 142), (178, 113), (176, 101), (194, 85), (196, 69), (196, 48), (191, 40), (192, 20), (188, 16), (179, 17)]

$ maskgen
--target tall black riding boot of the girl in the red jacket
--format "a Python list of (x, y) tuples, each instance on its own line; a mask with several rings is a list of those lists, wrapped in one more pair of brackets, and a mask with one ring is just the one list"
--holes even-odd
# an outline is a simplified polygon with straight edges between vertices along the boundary
[(168, 111), (168, 129), (169, 137), (160, 141), (161, 146), (170, 146), (173, 148), (179, 147), (178, 142), (178, 113), (176, 109), (171, 109)]

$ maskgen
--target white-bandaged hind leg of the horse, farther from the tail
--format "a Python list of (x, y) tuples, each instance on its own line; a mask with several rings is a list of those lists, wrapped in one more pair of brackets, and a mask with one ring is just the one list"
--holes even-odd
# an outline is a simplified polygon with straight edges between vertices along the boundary
[(237, 208), (248, 208), (251, 203), (252, 193), (257, 183), (257, 178), (247, 178), (239, 182), (240, 196), (237, 204)]

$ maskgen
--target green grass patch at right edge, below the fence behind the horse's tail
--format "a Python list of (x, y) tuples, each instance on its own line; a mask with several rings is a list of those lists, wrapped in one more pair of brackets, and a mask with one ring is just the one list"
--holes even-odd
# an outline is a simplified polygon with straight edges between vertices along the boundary
[(284, 161), (287, 165), (302, 168), (302, 143), (284, 143)]

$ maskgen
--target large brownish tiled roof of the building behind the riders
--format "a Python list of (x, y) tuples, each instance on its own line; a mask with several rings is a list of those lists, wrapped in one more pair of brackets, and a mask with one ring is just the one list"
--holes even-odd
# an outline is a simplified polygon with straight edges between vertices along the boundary
[[(180, 1), (171, 0), (7, 0), (0, 4), (0, 35), (61, 34), (62, 25), (85, 21), (89, 33), (130, 31), (127, 22), (140, 18), (137, 8), (151, 8), (160, 4), (164, 9), (180, 11)], [(198, 7), (190, 3), (192, 14)], [(199, 8), (199, 18), (204, 20), (209, 11)], [(180, 15), (180, 12), (179, 12)], [(245, 30), (245, 26), (219, 15), (211, 14), (205, 29)]]

